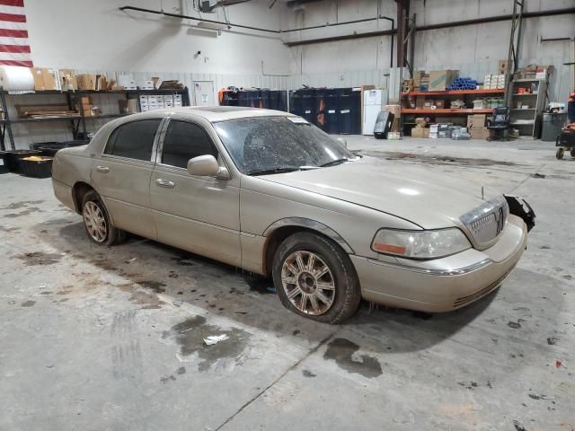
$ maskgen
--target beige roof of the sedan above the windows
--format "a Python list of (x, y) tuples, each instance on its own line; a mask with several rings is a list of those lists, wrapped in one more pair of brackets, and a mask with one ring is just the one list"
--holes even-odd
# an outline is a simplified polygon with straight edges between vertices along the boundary
[(157, 117), (157, 115), (177, 115), (203, 117), (211, 122), (224, 121), (226, 119), (245, 119), (250, 117), (294, 117), (293, 114), (283, 110), (263, 110), (261, 108), (246, 108), (243, 106), (186, 106), (164, 110), (152, 110), (136, 114), (142, 118)]

